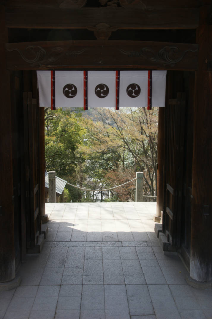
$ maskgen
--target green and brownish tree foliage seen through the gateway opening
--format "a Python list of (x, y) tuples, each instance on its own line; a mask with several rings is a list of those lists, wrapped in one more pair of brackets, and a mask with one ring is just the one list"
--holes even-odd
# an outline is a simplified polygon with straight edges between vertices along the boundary
[[(82, 188), (105, 189), (144, 173), (144, 193), (157, 189), (157, 109), (46, 110), (46, 169)], [(66, 186), (72, 201), (133, 200), (135, 181), (106, 192)], [(70, 195), (70, 197), (69, 197)]]

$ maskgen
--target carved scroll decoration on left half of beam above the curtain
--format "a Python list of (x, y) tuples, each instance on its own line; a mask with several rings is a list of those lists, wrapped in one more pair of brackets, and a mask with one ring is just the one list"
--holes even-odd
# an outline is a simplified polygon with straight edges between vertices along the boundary
[[(7, 51), (18, 51), (22, 59), (29, 63), (32, 67), (37, 67), (39, 69), (42, 69), (43, 67), (48, 66), (48, 64), (55, 63), (55, 61), (59, 59), (63, 59), (63, 61), (66, 60), (66, 57), (77, 57), (78, 55), (82, 54), (84, 51), (86, 51), (87, 48), (83, 48), (80, 51), (67, 51), (63, 48), (56, 47), (53, 48), (50, 52), (46, 52), (46, 50), (40, 46), (29, 46), (26, 47), (23, 53), (18, 48), (7, 48)], [(61, 64), (62, 65), (62, 64)]]

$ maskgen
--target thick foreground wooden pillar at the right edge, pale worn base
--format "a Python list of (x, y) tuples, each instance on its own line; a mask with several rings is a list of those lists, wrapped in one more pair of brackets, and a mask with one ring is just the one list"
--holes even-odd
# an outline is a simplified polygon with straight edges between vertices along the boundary
[(195, 72), (193, 181), (190, 277), (212, 280), (212, 25), (210, 5), (200, 8), (197, 29), (198, 70)]

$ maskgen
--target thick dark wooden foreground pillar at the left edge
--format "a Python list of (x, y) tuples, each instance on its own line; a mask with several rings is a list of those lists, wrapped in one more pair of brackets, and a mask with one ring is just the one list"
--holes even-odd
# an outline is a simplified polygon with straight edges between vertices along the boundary
[(0, 290), (7, 290), (5, 282), (15, 278), (12, 134), (10, 74), (6, 70), (5, 43), (7, 30), (4, 23), (4, 6), (0, 5)]

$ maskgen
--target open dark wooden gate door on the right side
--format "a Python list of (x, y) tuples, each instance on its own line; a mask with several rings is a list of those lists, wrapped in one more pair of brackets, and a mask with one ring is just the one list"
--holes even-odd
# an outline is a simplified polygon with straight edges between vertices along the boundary
[(165, 223), (168, 241), (179, 248), (184, 161), (185, 93), (165, 109)]

